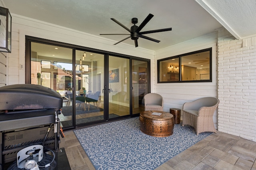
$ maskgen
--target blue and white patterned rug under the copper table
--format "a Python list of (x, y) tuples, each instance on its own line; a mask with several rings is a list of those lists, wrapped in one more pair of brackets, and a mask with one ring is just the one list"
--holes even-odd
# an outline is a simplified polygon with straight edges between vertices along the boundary
[(204, 139), (193, 127), (174, 125), (169, 137), (152, 137), (140, 131), (139, 118), (115, 121), (74, 133), (96, 170), (154, 170), (170, 158)]

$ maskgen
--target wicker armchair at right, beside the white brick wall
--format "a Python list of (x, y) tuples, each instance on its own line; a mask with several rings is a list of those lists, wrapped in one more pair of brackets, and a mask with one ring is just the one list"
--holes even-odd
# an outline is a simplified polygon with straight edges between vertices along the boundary
[(218, 107), (219, 100), (213, 97), (200, 98), (193, 102), (183, 104), (182, 126), (190, 125), (196, 130), (196, 134), (202, 132), (214, 132), (213, 114)]

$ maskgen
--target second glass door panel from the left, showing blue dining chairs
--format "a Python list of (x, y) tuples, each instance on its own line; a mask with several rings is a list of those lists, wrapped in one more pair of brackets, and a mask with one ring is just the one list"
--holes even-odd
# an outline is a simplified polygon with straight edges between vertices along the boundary
[(76, 50), (76, 125), (104, 120), (104, 55)]

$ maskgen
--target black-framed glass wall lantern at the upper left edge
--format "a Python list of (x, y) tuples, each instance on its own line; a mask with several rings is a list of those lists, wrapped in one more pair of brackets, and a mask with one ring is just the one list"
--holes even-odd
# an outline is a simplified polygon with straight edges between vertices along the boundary
[(12, 16), (7, 8), (0, 7), (0, 51), (11, 53)]

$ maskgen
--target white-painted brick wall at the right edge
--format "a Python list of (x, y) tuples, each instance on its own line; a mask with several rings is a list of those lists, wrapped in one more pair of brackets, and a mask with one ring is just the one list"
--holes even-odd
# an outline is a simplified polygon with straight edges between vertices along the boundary
[(218, 130), (256, 141), (256, 37), (218, 30)]

